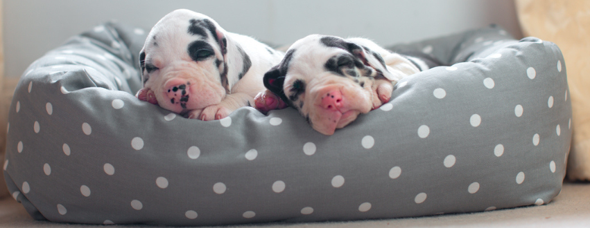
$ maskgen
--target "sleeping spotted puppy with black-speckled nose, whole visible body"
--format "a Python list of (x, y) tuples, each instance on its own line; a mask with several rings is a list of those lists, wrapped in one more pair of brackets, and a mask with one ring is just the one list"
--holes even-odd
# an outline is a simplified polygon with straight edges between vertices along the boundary
[(283, 53), (191, 10), (175, 10), (150, 31), (139, 55), (137, 97), (199, 120), (219, 120), (264, 91), (262, 77)]

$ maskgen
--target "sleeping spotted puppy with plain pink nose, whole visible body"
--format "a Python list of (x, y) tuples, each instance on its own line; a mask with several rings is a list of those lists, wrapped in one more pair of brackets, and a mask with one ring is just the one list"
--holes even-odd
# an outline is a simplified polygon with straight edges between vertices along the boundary
[(292, 106), (313, 129), (332, 135), (388, 102), (399, 79), (439, 65), (390, 53), (368, 39), (309, 35), (264, 75), (268, 91), (255, 104), (263, 112)]

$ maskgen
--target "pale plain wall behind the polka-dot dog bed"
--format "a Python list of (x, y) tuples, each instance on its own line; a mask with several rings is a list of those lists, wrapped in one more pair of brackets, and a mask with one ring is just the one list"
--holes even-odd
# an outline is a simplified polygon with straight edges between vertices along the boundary
[(277, 45), (313, 33), (366, 37), (390, 45), (489, 23), (522, 36), (514, 0), (3, 0), (5, 75), (19, 77), (68, 37), (105, 21), (147, 32), (178, 8), (201, 12), (225, 30)]

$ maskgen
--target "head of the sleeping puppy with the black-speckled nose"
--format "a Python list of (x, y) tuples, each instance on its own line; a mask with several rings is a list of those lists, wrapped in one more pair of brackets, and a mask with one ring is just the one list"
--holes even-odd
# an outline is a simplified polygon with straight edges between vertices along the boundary
[(139, 60), (145, 91), (175, 113), (218, 104), (227, 85), (227, 41), (211, 18), (175, 10), (150, 31)]

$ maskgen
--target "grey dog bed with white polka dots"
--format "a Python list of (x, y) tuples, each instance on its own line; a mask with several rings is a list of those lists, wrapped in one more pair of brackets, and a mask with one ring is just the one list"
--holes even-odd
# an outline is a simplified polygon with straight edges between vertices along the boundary
[(134, 97), (146, 33), (107, 23), (35, 61), (3, 163), (36, 219), (227, 225), (428, 216), (550, 202), (571, 101), (559, 48), (491, 26), (392, 50), (449, 66), (332, 136), (292, 109), (187, 120)]

